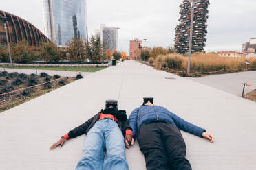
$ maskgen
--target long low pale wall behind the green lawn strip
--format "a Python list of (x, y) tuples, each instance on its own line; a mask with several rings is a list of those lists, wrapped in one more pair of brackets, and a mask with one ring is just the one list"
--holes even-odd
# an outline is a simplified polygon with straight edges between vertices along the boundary
[[(0, 66), (11, 66), (10, 63), (0, 63)], [(31, 67), (105, 67), (108, 64), (13, 64), (13, 66), (31, 66)]]

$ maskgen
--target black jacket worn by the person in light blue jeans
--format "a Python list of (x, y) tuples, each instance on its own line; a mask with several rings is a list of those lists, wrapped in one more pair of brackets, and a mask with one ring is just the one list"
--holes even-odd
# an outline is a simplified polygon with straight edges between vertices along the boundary
[(132, 130), (131, 127), (129, 127), (129, 121), (127, 119), (125, 110), (105, 109), (98, 112), (98, 114), (96, 114), (82, 125), (74, 128), (73, 130), (70, 130), (70, 132), (68, 132), (69, 138), (76, 138), (82, 134), (87, 134), (87, 132), (89, 132), (94, 124), (100, 119), (100, 113), (114, 115), (114, 117), (118, 119), (118, 126), (124, 136), (127, 129)]

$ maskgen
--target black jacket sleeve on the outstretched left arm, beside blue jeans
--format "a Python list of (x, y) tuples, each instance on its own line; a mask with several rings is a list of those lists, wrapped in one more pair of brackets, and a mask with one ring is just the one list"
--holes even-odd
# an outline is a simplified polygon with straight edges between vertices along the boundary
[[(96, 116), (97, 116), (97, 114), (94, 117), (96, 117)], [(77, 136), (85, 134), (87, 128), (94, 120), (94, 117), (92, 117), (91, 119), (89, 119), (88, 121), (83, 123), (82, 125), (79, 125), (78, 127), (74, 128), (73, 130), (70, 130), (70, 132), (68, 132), (69, 138), (76, 138)]]

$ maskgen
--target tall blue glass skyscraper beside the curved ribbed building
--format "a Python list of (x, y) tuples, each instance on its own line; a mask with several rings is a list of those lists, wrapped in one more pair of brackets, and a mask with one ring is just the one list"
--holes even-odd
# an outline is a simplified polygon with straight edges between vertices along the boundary
[(57, 45), (87, 38), (86, 0), (43, 0), (45, 34)]

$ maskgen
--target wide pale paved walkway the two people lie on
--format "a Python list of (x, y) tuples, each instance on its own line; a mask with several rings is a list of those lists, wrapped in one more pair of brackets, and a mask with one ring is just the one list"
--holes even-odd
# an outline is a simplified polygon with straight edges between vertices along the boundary
[[(119, 99), (120, 109), (130, 114), (146, 95), (215, 136), (215, 143), (209, 143), (182, 132), (193, 169), (255, 169), (255, 102), (133, 61), (89, 74), (0, 114), (0, 169), (74, 169), (84, 136), (54, 151), (50, 145), (96, 114), (105, 99)], [(145, 169), (138, 143), (127, 149), (127, 160), (131, 170)]]

